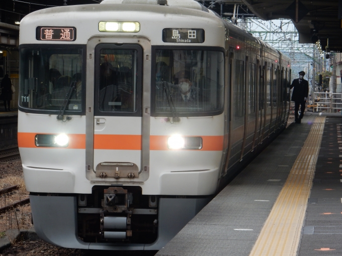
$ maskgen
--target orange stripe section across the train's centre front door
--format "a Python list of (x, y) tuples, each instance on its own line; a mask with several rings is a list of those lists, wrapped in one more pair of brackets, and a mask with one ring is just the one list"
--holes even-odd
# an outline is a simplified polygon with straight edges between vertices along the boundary
[(94, 149), (141, 150), (141, 135), (94, 135)]

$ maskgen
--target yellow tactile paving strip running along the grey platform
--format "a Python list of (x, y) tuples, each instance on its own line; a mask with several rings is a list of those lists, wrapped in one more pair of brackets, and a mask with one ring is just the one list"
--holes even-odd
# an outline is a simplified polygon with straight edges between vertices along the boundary
[(325, 117), (316, 117), (249, 256), (295, 256), (311, 191)]

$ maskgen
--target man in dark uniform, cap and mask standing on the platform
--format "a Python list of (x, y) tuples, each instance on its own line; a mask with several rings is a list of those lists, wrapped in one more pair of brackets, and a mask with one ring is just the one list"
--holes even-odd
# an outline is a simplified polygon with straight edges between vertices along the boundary
[[(300, 123), (303, 118), (305, 110), (305, 102), (309, 94), (309, 83), (304, 79), (305, 72), (299, 72), (299, 78), (294, 79), (291, 84), (292, 98), (291, 100), (295, 102), (295, 122)], [(298, 110), (300, 105), (300, 115), (298, 116)]]

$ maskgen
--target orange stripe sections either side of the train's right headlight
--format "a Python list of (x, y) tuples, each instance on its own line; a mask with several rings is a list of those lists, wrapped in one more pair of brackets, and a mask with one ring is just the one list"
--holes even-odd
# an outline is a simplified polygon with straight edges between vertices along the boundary
[[(169, 150), (167, 148), (167, 138), (169, 136), (150, 136), (150, 150)], [(201, 136), (203, 147), (201, 151), (222, 151), (223, 136)]]

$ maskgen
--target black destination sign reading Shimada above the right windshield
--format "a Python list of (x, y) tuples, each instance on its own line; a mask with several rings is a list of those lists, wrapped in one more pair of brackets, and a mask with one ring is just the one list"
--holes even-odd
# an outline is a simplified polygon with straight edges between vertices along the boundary
[(163, 29), (165, 43), (203, 43), (204, 29)]

